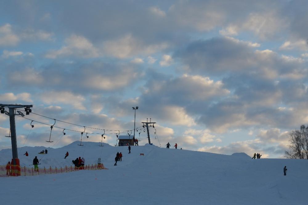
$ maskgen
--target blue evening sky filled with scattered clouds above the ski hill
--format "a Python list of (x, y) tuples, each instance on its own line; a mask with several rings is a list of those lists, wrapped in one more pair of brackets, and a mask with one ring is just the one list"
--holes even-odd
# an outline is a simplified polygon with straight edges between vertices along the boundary
[[(62, 147), (83, 126), (101, 142), (103, 129), (133, 130), (138, 106), (136, 127), (156, 122), (156, 145), (283, 158), (288, 133), (308, 123), (307, 1), (0, 4), (0, 103), (51, 118), (27, 115), (48, 124), (31, 129), (16, 116), (18, 147)], [(80, 132), (55, 127), (47, 143), (52, 119)], [(2, 114), (0, 149), (5, 135)]]

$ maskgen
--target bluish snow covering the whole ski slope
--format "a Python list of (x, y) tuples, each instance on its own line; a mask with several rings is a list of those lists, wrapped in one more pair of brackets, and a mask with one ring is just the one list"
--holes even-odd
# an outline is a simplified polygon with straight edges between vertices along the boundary
[[(47, 147), (47, 155), (37, 154), (46, 147), (18, 148), (21, 166), (31, 167), (38, 156), (40, 168), (65, 167), (81, 156), (86, 164), (101, 158), (108, 170), (0, 177), (1, 204), (307, 204), (307, 160), (251, 159), (245, 153), (220, 155), (148, 144), (131, 146), (128, 154), (127, 146), (77, 144)], [(113, 166), (116, 152), (123, 158)], [(10, 149), (0, 151), (1, 165), (11, 158)]]

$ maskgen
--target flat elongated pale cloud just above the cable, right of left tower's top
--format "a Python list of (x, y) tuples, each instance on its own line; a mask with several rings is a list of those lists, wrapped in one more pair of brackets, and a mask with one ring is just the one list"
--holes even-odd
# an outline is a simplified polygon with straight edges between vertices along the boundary
[(47, 104), (63, 103), (63, 104), (72, 105), (75, 109), (78, 109), (78, 110), (86, 110), (86, 107), (84, 107), (83, 105), (85, 98), (82, 95), (76, 95), (76, 94), (73, 94), (67, 91), (45, 92), (41, 94), (41, 99), (43, 102)]

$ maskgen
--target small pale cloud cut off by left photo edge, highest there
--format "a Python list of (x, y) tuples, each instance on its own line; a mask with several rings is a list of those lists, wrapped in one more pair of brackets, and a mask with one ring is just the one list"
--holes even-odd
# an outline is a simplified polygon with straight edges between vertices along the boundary
[(0, 46), (15, 46), (19, 40), (19, 37), (12, 31), (10, 24), (0, 26)]

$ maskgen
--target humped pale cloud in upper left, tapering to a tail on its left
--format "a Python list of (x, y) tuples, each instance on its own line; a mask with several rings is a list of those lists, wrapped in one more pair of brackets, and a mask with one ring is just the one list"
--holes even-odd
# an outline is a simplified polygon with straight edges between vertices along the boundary
[(65, 46), (59, 50), (50, 50), (45, 55), (46, 58), (58, 58), (62, 56), (74, 55), (83, 58), (96, 58), (100, 52), (95, 46), (83, 36), (71, 35), (65, 39)]

